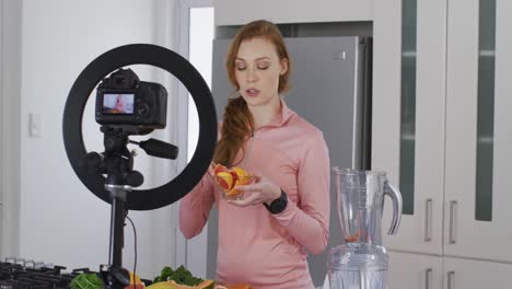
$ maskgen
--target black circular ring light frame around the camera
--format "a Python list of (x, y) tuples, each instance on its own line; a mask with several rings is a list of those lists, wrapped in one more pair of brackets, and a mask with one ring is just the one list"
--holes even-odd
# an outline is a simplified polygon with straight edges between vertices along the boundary
[[(191, 94), (199, 115), (199, 138), (185, 170), (165, 185), (151, 189), (132, 189), (126, 209), (158, 209), (184, 197), (207, 172), (217, 144), (217, 113), (211, 92), (201, 74), (185, 58), (161, 46), (130, 44), (114, 48), (94, 59), (80, 73), (66, 102), (62, 134), (66, 153), (80, 181), (98, 198), (112, 204), (101, 173), (86, 173), (79, 161), (86, 154), (82, 138), (82, 116), (89, 95), (96, 84), (114, 70), (129, 65), (150, 65), (175, 76)], [(185, 109), (185, 108), (182, 108)]]

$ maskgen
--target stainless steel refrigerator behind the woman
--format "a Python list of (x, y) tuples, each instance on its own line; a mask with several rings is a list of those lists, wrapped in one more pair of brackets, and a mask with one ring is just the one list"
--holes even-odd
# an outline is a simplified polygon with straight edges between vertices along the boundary
[[(219, 119), (233, 88), (224, 67), (231, 39), (213, 42), (212, 93)], [(292, 58), (291, 90), (287, 105), (324, 132), (330, 164), (370, 167), (371, 136), (371, 38), (286, 38)], [(337, 218), (336, 193), (330, 185), (330, 238), (321, 255), (309, 256), (315, 286), (324, 282), (327, 255), (344, 242)], [(218, 245), (218, 212), (213, 207), (208, 223), (207, 276), (214, 278)]]

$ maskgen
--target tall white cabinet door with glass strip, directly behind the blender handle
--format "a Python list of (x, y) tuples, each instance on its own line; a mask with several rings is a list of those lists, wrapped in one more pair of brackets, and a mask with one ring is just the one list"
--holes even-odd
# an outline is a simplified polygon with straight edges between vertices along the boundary
[[(384, 242), (388, 248), (440, 255), (446, 2), (374, 5), (372, 169), (386, 171), (404, 198), (398, 234)], [(385, 206), (384, 231), (391, 211)]]

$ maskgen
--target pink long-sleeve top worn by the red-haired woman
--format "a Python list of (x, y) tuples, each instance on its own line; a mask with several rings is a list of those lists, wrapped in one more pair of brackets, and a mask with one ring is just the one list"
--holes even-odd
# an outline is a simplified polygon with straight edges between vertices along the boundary
[(217, 280), (252, 288), (314, 288), (307, 252), (322, 253), (329, 235), (329, 159), (323, 134), (281, 101), (280, 113), (255, 131), (238, 166), (264, 175), (288, 195), (271, 215), (263, 205), (228, 204), (209, 175), (179, 205), (179, 229), (199, 234), (213, 204), (219, 211)]

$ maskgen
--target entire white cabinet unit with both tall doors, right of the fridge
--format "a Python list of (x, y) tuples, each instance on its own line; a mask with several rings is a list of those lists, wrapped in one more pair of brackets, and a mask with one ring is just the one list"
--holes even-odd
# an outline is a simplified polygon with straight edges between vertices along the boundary
[[(379, 2), (372, 169), (386, 171), (404, 197), (398, 234), (384, 245), (441, 257), (439, 288), (509, 287), (512, 2)], [(391, 211), (386, 204), (384, 230)], [(424, 269), (418, 264), (398, 263), (391, 281), (412, 282), (396, 271)]]

